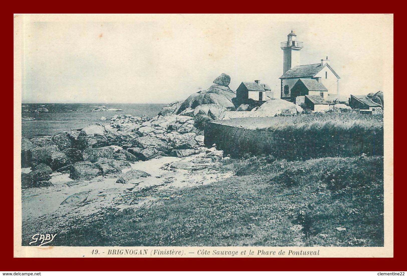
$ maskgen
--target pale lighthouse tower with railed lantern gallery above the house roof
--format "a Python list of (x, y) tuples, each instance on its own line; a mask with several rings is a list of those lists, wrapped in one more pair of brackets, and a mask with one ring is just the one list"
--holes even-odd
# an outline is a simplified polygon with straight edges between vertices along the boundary
[(303, 42), (297, 41), (297, 35), (291, 30), (287, 35), (287, 41), (281, 42), (281, 49), (284, 51), (283, 74), (294, 66), (300, 65), (300, 51)]

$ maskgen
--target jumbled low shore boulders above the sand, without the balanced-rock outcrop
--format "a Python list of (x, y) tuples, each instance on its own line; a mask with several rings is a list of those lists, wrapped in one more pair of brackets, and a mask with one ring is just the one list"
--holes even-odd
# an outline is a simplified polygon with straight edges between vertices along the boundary
[(54, 172), (69, 173), (70, 179), (78, 181), (99, 175), (129, 178), (120, 174), (131, 163), (163, 156), (204, 153), (202, 158), (219, 161), (222, 152), (205, 148), (203, 131), (195, 125), (194, 118), (186, 115), (115, 115), (106, 126), (90, 125), (52, 137), (22, 137), (22, 168), (31, 169), (22, 172), (22, 188), (53, 185)]

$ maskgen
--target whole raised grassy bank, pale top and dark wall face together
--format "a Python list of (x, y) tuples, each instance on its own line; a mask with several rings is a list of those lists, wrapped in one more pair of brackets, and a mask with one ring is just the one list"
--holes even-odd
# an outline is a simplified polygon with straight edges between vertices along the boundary
[(226, 155), (271, 154), (290, 161), (383, 155), (383, 114), (345, 112), (238, 118), (207, 124), (205, 144)]

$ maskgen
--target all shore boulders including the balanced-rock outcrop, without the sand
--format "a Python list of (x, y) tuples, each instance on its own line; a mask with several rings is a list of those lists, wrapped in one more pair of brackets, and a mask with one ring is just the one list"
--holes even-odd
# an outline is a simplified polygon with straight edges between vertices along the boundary
[[(203, 129), (207, 121), (302, 112), (299, 106), (281, 99), (267, 101), (253, 110), (249, 106), (239, 106), (229, 84), (230, 76), (223, 73), (207, 90), (166, 105), (153, 118), (114, 115), (101, 117), (103, 123), (60, 132), (52, 137), (22, 137), (21, 187), (52, 186), (50, 179), (55, 173), (69, 174), (72, 181), (90, 181), (98, 176), (116, 178), (119, 182), (131, 181), (133, 174), (135, 179), (146, 174), (123, 174), (123, 170), (131, 168), (135, 162), (158, 157), (199, 155), (193, 163), (171, 164), (174, 169), (215, 163), (223, 158), (223, 152), (204, 146)], [(236, 111), (236, 108), (242, 111)], [(108, 120), (110, 122), (106, 124)]]

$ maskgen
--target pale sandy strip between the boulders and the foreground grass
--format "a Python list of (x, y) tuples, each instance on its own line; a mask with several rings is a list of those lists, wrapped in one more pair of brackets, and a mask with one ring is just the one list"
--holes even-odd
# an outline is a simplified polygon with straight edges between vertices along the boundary
[[(163, 192), (168, 190), (168, 194), (172, 194), (176, 188), (206, 185), (234, 174), (233, 172), (220, 174), (214, 170), (216, 163), (202, 161), (190, 169), (171, 168), (173, 162), (197, 161), (201, 160), (202, 156), (204, 153), (184, 158), (160, 157), (138, 161), (122, 172), (137, 169), (148, 172), (151, 176), (133, 179), (132, 183), (125, 184), (116, 183), (118, 175), (98, 176), (90, 181), (74, 181), (69, 178), (69, 174), (55, 172), (50, 179), (53, 186), (22, 190), (23, 225), (27, 223), (30, 228), (35, 228), (35, 225), (39, 227), (44, 218), (52, 217), (53, 225), (44, 225), (46, 222), (43, 222), (42, 227), (60, 229), (66, 227), (68, 221), (91, 214), (97, 215), (102, 208), (139, 208), (156, 204), (159, 198), (154, 194), (148, 194), (148, 188)], [(140, 191), (143, 191), (143, 197), (137, 197)], [(73, 196), (72, 200), (61, 204), (70, 196)]]

